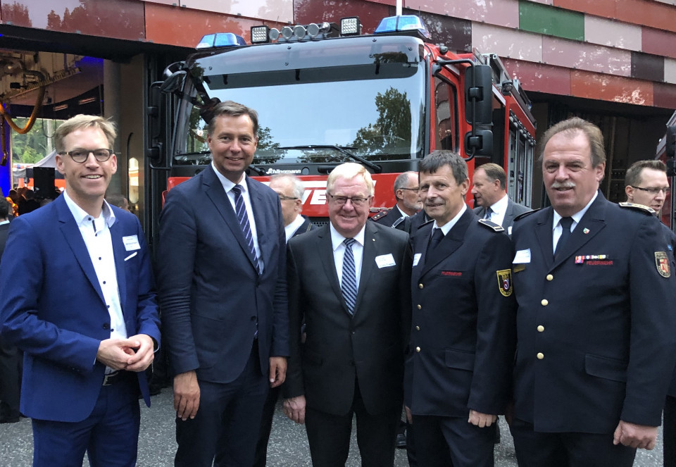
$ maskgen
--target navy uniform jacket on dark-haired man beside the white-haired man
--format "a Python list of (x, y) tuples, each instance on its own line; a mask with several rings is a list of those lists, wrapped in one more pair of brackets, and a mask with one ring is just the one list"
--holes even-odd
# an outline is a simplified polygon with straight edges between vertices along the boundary
[(468, 208), (427, 258), (432, 225), (413, 237), (406, 403), (415, 415), (504, 413), (515, 339), (511, 241)]

